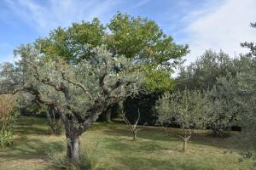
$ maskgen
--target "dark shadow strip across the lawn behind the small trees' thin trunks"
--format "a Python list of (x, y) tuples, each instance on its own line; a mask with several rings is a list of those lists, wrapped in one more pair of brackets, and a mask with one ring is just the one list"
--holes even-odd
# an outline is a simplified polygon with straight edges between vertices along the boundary
[[(121, 139), (122, 137), (132, 139), (132, 134), (128, 129), (125, 128), (125, 125), (122, 127), (104, 128), (102, 129), (102, 132), (115, 136), (118, 139)], [(152, 140), (155, 143), (157, 141), (180, 141), (182, 143), (183, 141), (177, 136), (177, 134), (182, 135), (183, 131), (178, 128), (172, 128), (167, 134), (161, 127), (145, 127), (142, 131), (137, 133), (137, 137), (138, 139)], [(247, 148), (247, 144), (243, 144), (240, 140), (236, 139), (236, 137), (239, 135), (239, 133), (230, 133), (228, 137), (218, 138), (213, 137), (211, 131), (202, 131), (192, 134), (191, 139), (189, 139), (189, 143), (212, 146), (224, 150), (244, 150)]]

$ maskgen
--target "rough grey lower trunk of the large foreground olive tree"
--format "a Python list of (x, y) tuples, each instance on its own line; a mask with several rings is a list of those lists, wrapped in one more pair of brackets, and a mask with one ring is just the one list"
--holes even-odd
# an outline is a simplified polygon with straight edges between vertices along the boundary
[(74, 137), (67, 136), (67, 158), (70, 161), (78, 162), (79, 154), (80, 154), (79, 150), (80, 150), (79, 136), (74, 136)]

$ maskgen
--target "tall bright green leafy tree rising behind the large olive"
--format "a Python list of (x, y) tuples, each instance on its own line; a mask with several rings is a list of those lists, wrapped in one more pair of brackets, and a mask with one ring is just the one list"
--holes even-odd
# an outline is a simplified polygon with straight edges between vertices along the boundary
[[(73, 23), (67, 29), (59, 27), (51, 31), (49, 37), (36, 42), (47, 56), (45, 59), (61, 58), (69, 65), (94, 58), (93, 48), (101, 44), (107, 44), (113, 58), (125, 56), (140, 63), (146, 77), (143, 87), (152, 92), (172, 88), (171, 73), (189, 52), (187, 45), (177, 45), (153, 20), (121, 13), (114, 15), (106, 26), (98, 19)], [(110, 121), (111, 110), (109, 107), (104, 111), (102, 120)]]

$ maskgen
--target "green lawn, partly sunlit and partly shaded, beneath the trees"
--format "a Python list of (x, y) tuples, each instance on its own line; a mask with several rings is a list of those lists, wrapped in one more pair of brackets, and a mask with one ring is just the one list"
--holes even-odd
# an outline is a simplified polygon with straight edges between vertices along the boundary
[[(0, 148), (0, 169), (50, 169), (47, 152), (51, 146), (66, 150), (65, 137), (49, 136), (44, 119), (21, 117), (15, 127), (15, 145)], [(171, 129), (172, 133), (180, 133)], [(95, 123), (82, 136), (82, 150), (90, 154), (96, 169), (136, 170), (250, 170), (252, 162), (238, 162), (240, 150), (248, 149), (233, 133), (230, 138), (213, 138), (209, 132), (197, 132), (189, 141), (189, 150), (176, 136), (168, 137), (162, 128), (145, 127), (132, 141), (128, 129), (119, 123)], [(225, 153), (232, 150), (232, 153)]]

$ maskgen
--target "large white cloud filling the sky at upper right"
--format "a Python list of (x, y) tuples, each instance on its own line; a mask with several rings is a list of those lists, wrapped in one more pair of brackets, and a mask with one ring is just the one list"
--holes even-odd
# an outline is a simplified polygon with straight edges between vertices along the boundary
[(191, 53), (186, 64), (209, 48), (223, 49), (231, 57), (246, 52), (240, 42), (256, 41), (256, 30), (249, 26), (256, 21), (255, 7), (255, 0), (225, 0), (217, 8), (211, 6), (187, 17), (185, 33), (189, 36), (184, 43), (189, 43)]

